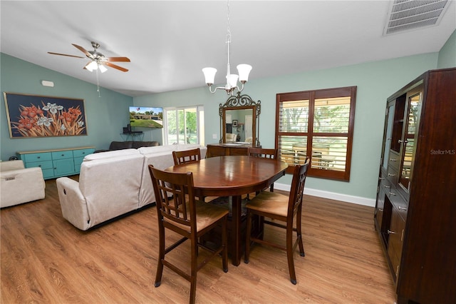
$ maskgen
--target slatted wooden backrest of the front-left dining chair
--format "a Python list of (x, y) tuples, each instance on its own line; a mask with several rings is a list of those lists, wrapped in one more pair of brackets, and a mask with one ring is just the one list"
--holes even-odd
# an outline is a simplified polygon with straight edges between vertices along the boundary
[(185, 226), (196, 226), (193, 175), (161, 171), (149, 165), (158, 216)]

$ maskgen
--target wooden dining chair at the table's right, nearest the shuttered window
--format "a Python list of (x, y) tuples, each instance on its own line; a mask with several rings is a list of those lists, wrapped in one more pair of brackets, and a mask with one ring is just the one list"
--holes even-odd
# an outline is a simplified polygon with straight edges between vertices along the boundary
[[(291, 190), (289, 196), (280, 193), (266, 192), (259, 193), (247, 203), (247, 236), (245, 246), (244, 263), (249, 263), (251, 243), (261, 243), (274, 248), (286, 251), (288, 259), (288, 268), (291, 283), (296, 284), (296, 273), (294, 271), (294, 250), (299, 245), (299, 253), (304, 256), (304, 245), (302, 243), (301, 233), (301, 211), (304, 184), (306, 183), (307, 170), (309, 168), (310, 158), (306, 159), (303, 166), (294, 166), (293, 181), (291, 181)], [(264, 220), (264, 224), (286, 229), (285, 245), (264, 240), (264, 230), (259, 230), (257, 235), (252, 235), (252, 217), (271, 218), (272, 221)], [(294, 227), (294, 218), (296, 218), (296, 228)], [(277, 223), (281, 221), (283, 223)], [(293, 243), (293, 233), (296, 231), (296, 240)]]

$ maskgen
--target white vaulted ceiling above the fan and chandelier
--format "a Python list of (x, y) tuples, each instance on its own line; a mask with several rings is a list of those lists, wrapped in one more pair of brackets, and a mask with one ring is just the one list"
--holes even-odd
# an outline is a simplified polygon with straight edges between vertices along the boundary
[[(205, 86), (227, 71), (227, 1), (1, 1), (5, 54), (96, 83), (71, 44), (127, 56), (100, 86), (128, 96)], [(439, 51), (456, 29), (452, 0), (438, 26), (383, 37), (390, 1), (230, 1), (231, 64), (250, 80)], [(116, 63), (117, 64), (117, 63)], [(56, 81), (56, 79), (46, 79)]]

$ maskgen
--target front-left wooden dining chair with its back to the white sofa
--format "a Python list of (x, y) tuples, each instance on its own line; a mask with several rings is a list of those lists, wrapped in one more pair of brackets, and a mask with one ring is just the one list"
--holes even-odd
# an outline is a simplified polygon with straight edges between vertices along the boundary
[[(227, 251), (227, 216), (225, 208), (214, 206), (209, 203), (197, 201), (193, 188), (193, 174), (172, 173), (161, 171), (149, 165), (152, 185), (155, 191), (157, 202), (157, 219), (159, 235), (159, 253), (157, 274), (155, 276), (155, 287), (160, 286), (162, 281), (163, 266), (167, 266), (175, 273), (190, 281), (190, 303), (195, 303), (197, 288), (197, 271), (206, 263), (219, 254), (222, 255), (222, 268), (228, 271)], [(172, 196), (169, 196), (172, 193)], [(205, 233), (222, 226), (222, 244), (215, 249), (207, 248), (199, 243), (199, 238)], [(165, 228), (182, 235), (180, 240), (165, 247)], [(165, 258), (167, 253), (179, 245), (190, 240), (190, 274), (188, 270), (182, 270), (177, 265)], [(198, 248), (204, 248), (211, 253), (207, 258), (198, 263)], [(181, 258), (188, 255), (177, 253)]]

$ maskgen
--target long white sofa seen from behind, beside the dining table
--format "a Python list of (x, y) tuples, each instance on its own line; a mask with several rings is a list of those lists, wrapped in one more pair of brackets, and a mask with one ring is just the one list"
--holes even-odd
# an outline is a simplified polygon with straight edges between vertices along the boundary
[(148, 165), (165, 169), (174, 165), (172, 151), (196, 147), (204, 158), (207, 148), (199, 145), (152, 146), (86, 156), (79, 182), (66, 177), (56, 180), (63, 218), (88, 230), (155, 203)]

